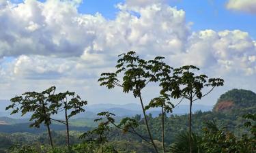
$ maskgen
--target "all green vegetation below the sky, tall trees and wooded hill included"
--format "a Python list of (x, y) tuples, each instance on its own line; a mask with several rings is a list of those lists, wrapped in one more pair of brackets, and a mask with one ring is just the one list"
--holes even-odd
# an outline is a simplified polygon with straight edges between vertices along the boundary
[[(120, 119), (111, 112), (100, 112), (96, 127), (70, 124), (89, 103), (75, 92), (56, 93), (52, 86), (12, 98), (6, 109), (12, 110), (11, 114), (31, 114), (31, 118), (29, 123), (0, 126), (4, 132), (0, 135), (0, 152), (255, 152), (256, 94), (229, 90), (219, 97), (212, 111), (193, 114), (194, 101), (207, 99), (212, 90), (224, 85), (224, 80), (198, 75), (199, 68), (193, 65), (173, 68), (163, 60), (156, 57), (145, 61), (135, 52), (119, 55), (116, 71), (102, 73), (100, 86), (122, 88), (125, 94), (133, 95), (143, 114)], [(148, 103), (141, 91), (149, 84), (158, 84), (160, 90), (156, 91), (159, 96)], [(173, 115), (180, 104), (171, 103), (173, 99), (186, 101), (189, 113)], [(161, 110), (159, 116), (146, 113), (155, 107)], [(60, 112), (63, 118), (54, 118)], [(40, 131), (23, 131), (29, 126)]]

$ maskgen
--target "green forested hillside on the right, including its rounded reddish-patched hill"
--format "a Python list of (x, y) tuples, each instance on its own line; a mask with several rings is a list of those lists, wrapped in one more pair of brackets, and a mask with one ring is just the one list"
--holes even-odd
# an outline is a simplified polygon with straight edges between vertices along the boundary
[[(227, 105), (230, 107), (225, 107), (222, 109), (222, 104), (229, 104), (231, 101), (231, 105)], [(242, 136), (246, 133), (246, 129), (244, 129), (244, 118), (242, 117), (247, 113), (255, 113), (256, 101), (255, 101), (255, 93), (250, 90), (238, 90), (233, 89), (225, 92), (221, 97), (219, 97), (218, 101), (216, 101), (216, 105), (214, 106), (213, 111), (208, 112), (196, 112), (193, 114), (193, 131), (201, 134), (201, 129), (204, 126), (204, 122), (208, 120), (215, 120), (216, 124), (221, 127), (225, 127), (225, 129), (232, 131), (237, 136)], [(239, 111), (238, 111), (239, 109)], [(223, 111), (223, 110), (229, 110)], [(161, 140), (162, 133), (158, 129), (158, 125), (161, 124), (161, 116), (157, 117), (149, 117), (150, 127), (152, 129), (152, 133), (154, 138), (157, 140)], [(175, 139), (175, 135), (182, 133), (188, 130), (188, 115), (171, 115), (165, 118), (165, 122), (168, 126), (166, 129), (166, 142), (172, 143)], [(140, 120), (139, 133), (146, 133), (143, 128), (143, 119)], [(139, 137), (134, 137), (134, 135), (124, 135), (123, 133), (118, 133), (118, 130), (113, 131), (111, 133), (109, 139), (121, 141), (122, 139), (136, 139), (140, 141)]]

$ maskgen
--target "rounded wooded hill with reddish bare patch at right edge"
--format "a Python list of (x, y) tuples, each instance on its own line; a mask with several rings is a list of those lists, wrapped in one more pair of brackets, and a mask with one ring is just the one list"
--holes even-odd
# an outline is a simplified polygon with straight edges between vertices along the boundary
[(214, 105), (214, 112), (227, 112), (234, 109), (256, 107), (256, 93), (251, 90), (232, 89), (225, 92)]

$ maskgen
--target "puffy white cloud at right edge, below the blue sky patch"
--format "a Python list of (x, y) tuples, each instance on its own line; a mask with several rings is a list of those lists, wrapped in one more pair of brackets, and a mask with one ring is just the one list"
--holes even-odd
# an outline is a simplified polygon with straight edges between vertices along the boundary
[(248, 33), (239, 30), (205, 30), (190, 35), (186, 52), (174, 55), (172, 59), (177, 61), (175, 59), (181, 58), (180, 65), (255, 75), (255, 56), (256, 46)]

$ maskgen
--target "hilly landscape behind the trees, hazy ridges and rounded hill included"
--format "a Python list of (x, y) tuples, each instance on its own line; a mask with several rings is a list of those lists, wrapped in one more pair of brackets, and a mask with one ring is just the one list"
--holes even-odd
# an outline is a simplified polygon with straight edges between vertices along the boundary
[[(225, 107), (225, 109), (223, 109), (222, 103), (231, 103), (231, 105), (229, 105), (230, 107)], [(248, 112), (255, 113), (255, 104), (254, 92), (250, 90), (238, 89), (229, 90), (219, 97), (212, 111), (209, 109), (208, 112), (199, 110), (195, 112), (194, 109), (193, 131), (198, 135), (202, 135), (202, 129), (205, 126), (204, 122), (214, 119), (219, 127), (225, 127), (225, 130), (231, 131), (237, 137), (242, 137), (244, 133), (248, 133), (248, 129), (244, 128), (244, 122), (246, 122), (246, 120), (244, 120), (242, 116)], [(129, 107), (127, 107), (127, 105)], [(116, 122), (119, 122), (122, 115), (132, 116), (131, 112), (139, 112), (140, 110), (140, 107), (137, 104), (127, 105), (97, 104), (88, 105), (86, 107), (87, 112), (91, 112), (93, 114), (100, 111), (114, 112), (115, 114), (120, 115), (117, 117), (118, 119), (116, 119)], [(204, 107), (203, 105), (195, 105), (195, 107), (197, 109), (199, 107), (202, 109), (208, 109), (208, 107)], [(167, 144), (173, 143), (175, 141), (175, 137), (177, 137), (179, 133), (184, 133), (188, 130), (188, 114), (184, 114), (188, 111), (188, 105), (179, 105), (179, 107), (176, 107), (175, 109), (176, 111), (183, 111), (183, 114), (177, 115), (174, 113), (171, 114), (171, 116), (165, 116), (165, 142)], [(238, 109), (239, 111), (237, 111)], [(154, 139), (159, 142), (162, 139), (162, 133), (159, 130), (159, 125), (161, 124), (162, 118), (158, 115), (159, 112), (157, 109), (152, 109), (149, 112), (152, 114), (152, 116), (148, 116), (150, 129)], [(81, 133), (83, 133), (83, 131), (90, 130), (94, 128), (93, 126), (97, 126), (97, 123), (94, 122), (93, 118), (85, 118), (83, 116), (86, 115), (79, 114), (79, 116), (77, 116), (79, 118), (70, 120), (70, 130), (73, 133), (72, 142), (74, 142), (74, 144), (81, 143), (79, 136)], [(139, 122), (137, 132), (141, 133), (142, 135), (146, 135), (147, 131), (145, 131), (145, 122), (142, 116), (137, 116), (135, 119)], [(6, 148), (6, 146), (12, 146), (17, 139), (18, 141), (23, 141), (24, 144), (31, 144), (33, 141), (36, 141), (39, 145), (48, 143), (46, 128), (43, 125), (40, 127), (40, 129), (35, 129), (29, 128), (28, 123), (15, 124), (15, 122), (21, 122), (21, 120), (6, 117), (0, 118), (0, 120), (3, 120), (3, 124), (8, 123), (5, 125), (0, 125), (0, 140), (2, 139), (5, 142), (9, 142), (8, 145), (7, 143), (2, 146), (0, 145), (0, 149)], [(55, 143), (59, 146), (66, 143), (65, 126), (55, 124), (54, 122), (51, 125), (51, 128), (54, 131)], [(130, 133), (123, 133), (119, 129), (111, 128), (106, 134), (106, 137), (109, 140), (109, 143), (116, 146), (118, 150), (126, 150), (129, 153), (132, 152), (134, 148), (140, 150), (140, 153), (152, 151), (152, 148), (147, 146), (147, 143), (143, 143), (140, 137)]]

